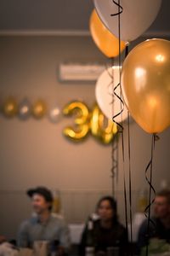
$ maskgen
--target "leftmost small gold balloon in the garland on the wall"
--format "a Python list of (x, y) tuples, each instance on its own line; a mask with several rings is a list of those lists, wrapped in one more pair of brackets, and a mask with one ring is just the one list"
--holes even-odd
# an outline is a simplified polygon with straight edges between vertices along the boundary
[(13, 97), (9, 97), (3, 104), (3, 114), (8, 118), (13, 118), (18, 113), (18, 104)]

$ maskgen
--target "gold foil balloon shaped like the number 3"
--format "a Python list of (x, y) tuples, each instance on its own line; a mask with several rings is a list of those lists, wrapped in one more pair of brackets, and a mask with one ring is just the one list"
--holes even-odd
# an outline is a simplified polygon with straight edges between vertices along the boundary
[(63, 131), (65, 137), (78, 142), (87, 137), (89, 131), (88, 107), (82, 102), (71, 102), (65, 106), (63, 113), (67, 116), (75, 115), (74, 127), (66, 127)]

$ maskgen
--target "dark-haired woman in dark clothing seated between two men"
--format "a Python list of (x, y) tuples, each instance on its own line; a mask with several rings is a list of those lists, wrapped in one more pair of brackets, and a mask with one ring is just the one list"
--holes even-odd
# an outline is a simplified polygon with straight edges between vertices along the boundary
[(116, 201), (111, 196), (101, 198), (96, 212), (99, 218), (83, 230), (80, 255), (85, 255), (86, 247), (89, 247), (89, 229), (93, 230), (95, 253), (106, 253), (108, 248), (118, 247), (119, 255), (124, 255), (127, 251), (127, 232), (117, 219)]

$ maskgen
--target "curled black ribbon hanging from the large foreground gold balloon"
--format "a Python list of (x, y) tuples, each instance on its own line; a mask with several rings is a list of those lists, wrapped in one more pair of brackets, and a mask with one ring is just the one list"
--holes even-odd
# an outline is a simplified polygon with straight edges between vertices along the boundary
[[(150, 157), (150, 161), (149, 161), (148, 165), (145, 168), (145, 179), (146, 179), (146, 182), (150, 186), (148, 206), (145, 207), (145, 209), (144, 209), (144, 214), (145, 214), (146, 218), (148, 218), (147, 233), (146, 233), (146, 241), (147, 241), (146, 242), (146, 256), (148, 256), (148, 253), (149, 253), (150, 224), (152, 224), (156, 228), (155, 222), (150, 218), (150, 207), (154, 203), (155, 198), (156, 198), (156, 190), (154, 189), (154, 187), (152, 185), (152, 176), (153, 176), (153, 170), (152, 170), (153, 168), (152, 167), (153, 167), (153, 157), (154, 157), (155, 144), (156, 144), (156, 141), (158, 139), (159, 139), (159, 137), (154, 133), (152, 135), (152, 140), (151, 140), (151, 157)], [(150, 177), (147, 176), (149, 171), (150, 171)], [(151, 200), (152, 192), (154, 193), (154, 197)]]

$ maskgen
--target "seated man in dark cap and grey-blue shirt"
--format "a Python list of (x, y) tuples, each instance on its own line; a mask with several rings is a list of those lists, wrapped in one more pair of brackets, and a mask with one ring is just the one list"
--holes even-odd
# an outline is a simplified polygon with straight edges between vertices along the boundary
[(69, 230), (62, 218), (52, 215), (53, 196), (49, 189), (37, 187), (29, 189), (32, 207), (36, 216), (20, 225), (19, 247), (33, 247), (34, 241), (59, 242), (59, 254), (64, 254), (70, 247)]

